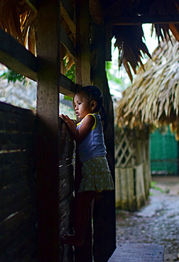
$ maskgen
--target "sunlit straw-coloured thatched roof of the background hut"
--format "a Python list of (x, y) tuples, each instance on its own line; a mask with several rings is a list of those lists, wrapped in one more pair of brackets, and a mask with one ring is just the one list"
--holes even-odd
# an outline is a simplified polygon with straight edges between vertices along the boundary
[(156, 48), (123, 93), (116, 110), (119, 126), (169, 125), (179, 139), (179, 44), (173, 39)]

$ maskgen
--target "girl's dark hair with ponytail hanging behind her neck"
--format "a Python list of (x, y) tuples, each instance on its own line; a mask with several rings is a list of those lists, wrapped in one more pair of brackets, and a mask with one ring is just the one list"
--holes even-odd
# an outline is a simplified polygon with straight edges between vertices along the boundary
[(82, 89), (77, 91), (75, 94), (77, 93), (83, 93), (89, 98), (89, 101), (94, 100), (97, 102), (95, 110), (101, 115), (103, 130), (107, 130), (107, 112), (103, 106), (102, 92), (99, 88), (97, 86), (83, 86)]

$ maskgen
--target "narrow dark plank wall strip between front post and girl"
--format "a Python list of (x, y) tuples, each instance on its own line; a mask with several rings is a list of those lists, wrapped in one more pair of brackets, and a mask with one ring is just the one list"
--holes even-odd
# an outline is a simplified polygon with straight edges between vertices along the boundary
[[(60, 140), (59, 140), (59, 217), (60, 217), (60, 236), (64, 233), (72, 234), (73, 213), (74, 213), (74, 140), (67, 132), (65, 124), (60, 119)], [(60, 261), (73, 261), (73, 249), (69, 245), (60, 246)]]

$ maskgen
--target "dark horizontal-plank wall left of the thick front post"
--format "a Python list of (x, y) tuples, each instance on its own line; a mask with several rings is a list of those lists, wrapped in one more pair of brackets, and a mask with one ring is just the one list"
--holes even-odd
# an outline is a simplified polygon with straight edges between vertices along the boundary
[(0, 103), (0, 261), (36, 261), (36, 116)]

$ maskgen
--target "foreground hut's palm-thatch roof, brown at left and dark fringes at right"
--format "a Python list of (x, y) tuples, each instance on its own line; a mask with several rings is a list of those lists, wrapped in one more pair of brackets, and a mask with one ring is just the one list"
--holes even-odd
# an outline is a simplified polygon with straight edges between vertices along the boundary
[[(70, 0), (75, 9), (75, 1)], [(0, 0), (0, 27), (10, 33), (28, 50), (36, 54), (36, 8), (30, 0)], [(63, 5), (61, 6), (61, 25), (72, 42), (75, 43), (75, 24), (70, 28), (65, 22)], [(170, 29), (175, 38), (179, 40), (179, 1), (178, 0), (89, 0), (89, 12), (94, 23), (107, 23), (112, 25), (112, 37), (116, 37), (116, 47), (119, 48), (119, 66), (124, 64), (126, 72), (132, 81), (131, 68), (141, 63), (143, 53), (148, 53), (143, 42), (142, 23), (154, 23), (158, 39), (167, 38)], [(161, 21), (161, 23), (159, 22)], [(163, 22), (162, 22), (163, 21)], [(167, 22), (168, 21), (168, 22)], [(62, 57), (61, 70), (64, 72), (63, 58), (67, 57), (67, 69), (75, 62), (63, 45), (60, 47)]]

